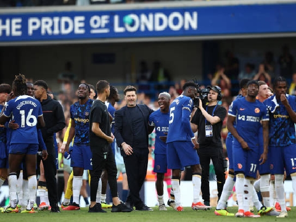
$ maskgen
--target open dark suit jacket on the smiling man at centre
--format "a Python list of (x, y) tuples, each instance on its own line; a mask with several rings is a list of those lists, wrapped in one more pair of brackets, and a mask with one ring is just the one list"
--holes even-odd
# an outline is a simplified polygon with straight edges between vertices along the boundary
[[(145, 124), (145, 134), (147, 135), (147, 142), (148, 142), (148, 117), (150, 113), (153, 112), (147, 105), (136, 105), (141, 114), (143, 116), (143, 120), (146, 122)], [(114, 136), (116, 139), (117, 146), (121, 148), (121, 144), (123, 142), (127, 143), (130, 146), (133, 146), (133, 127), (132, 127), (132, 119), (128, 116), (127, 106), (122, 107), (120, 110), (115, 111), (115, 124), (114, 124)], [(120, 149), (121, 155), (125, 156), (122, 148)]]

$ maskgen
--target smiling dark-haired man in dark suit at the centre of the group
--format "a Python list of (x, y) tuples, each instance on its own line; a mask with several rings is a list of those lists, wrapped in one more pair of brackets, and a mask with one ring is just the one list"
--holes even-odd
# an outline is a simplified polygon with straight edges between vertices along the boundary
[(148, 166), (148, 134), (153, 126), (148, 126), (148, 117), (153, 110), (146, 105), (138, 105), (137, 88), (125, 87), (126, 106), (115, 111), (114, 136), (121, 148), (130, 194), (127, 203), (136, 210), (152, 211), (140, 198), (140, 190), (144, 184)]

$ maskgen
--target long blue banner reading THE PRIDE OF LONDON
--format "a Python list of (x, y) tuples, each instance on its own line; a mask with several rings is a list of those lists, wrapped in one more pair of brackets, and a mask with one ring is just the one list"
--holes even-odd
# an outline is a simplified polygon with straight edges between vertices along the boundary
[(296, 4), (0, 14), (0, 41), (296, 32)]

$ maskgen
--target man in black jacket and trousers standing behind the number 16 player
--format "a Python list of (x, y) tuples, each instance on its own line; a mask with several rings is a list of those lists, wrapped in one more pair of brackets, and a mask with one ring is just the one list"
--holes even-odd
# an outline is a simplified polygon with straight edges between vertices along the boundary
[(35, 98), (40, 101), (43, 112), (45, 127), (41, 129), (41, 132), (48, 152), (47, 159), (42, 159), (46, 182), (42, 182), (43, 184), (41, 185), (38, 183), (38, 185), (47, 187), (51, 212), (59, 213), (56, 151), (53, 143), (53, 134), (64, 129), (66, 122), (61, 104), (47, 95), (47, 88), (47, 83), (43, 80), (37, 80), (34, 83)]

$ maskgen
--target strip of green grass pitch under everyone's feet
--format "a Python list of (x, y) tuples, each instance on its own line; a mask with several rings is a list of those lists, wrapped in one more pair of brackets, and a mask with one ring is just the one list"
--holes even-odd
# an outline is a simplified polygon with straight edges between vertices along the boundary
[[(292, 207), (288, 218), (276, 218), (262, 216), (261, 218), (236, 218), (222, 217), (214, 214), (214, 208), (209, 211), (193, 211), (185, 207), (183, 212), (174, 211), (171, 207), (168, 211), (133, 211), (131, 213), (88, 213), (87, 208), (80, 211), (61, 211), (61, 213), (50, 213), (49, 211), (38, 211), (37, 214), (0, 214), (0, 222), (237, 222), (239, 220), (278, 222), (295, 221), (296, 207)], [(229, 207), (229, 212), (236, 213), (237, 207)]]

